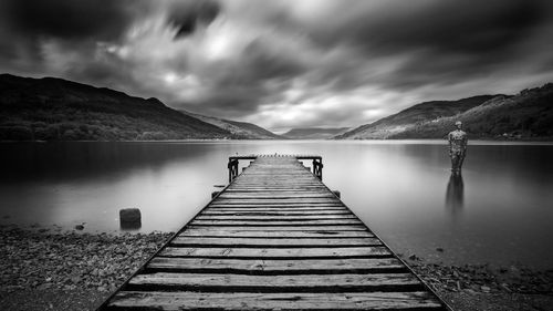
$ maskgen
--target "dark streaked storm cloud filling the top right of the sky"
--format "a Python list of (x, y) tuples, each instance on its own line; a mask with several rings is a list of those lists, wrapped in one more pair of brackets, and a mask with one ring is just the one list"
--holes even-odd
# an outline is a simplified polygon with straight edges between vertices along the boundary
[(371, 54), (405, 49), (480, 53), (501, 50), (520, 40), (543, 22), (547, 9), (543, 0), (386, 2), (376, 8), (368, 6), (346, 20), (321, 21), (321, 31), (315, 31), (314, 38), (331, 46), (348, 42)]

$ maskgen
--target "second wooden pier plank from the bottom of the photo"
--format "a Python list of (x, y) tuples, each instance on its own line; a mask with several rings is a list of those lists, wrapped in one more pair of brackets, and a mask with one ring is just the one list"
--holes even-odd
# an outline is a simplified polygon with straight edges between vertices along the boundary
[(420, 290), (422, 284), (413, 273), (344, 273), (344, 274), (276, 274), (249, 276), (233, 273), (138, 274), (131, 279), (134, 289), (201, 290), (231, 292), (347, 292)]

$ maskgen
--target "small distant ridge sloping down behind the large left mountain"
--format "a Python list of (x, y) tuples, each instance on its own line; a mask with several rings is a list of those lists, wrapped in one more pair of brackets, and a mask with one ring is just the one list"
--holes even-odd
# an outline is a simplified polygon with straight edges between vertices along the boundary
[(225, 118), (218, 118), (213, 116), (206, 116), (201, 114), (195, 114), (187, 111), (180, 111), (181, 113), (192, 116), (195, 118), (201, 120), (206, 123), (216, 125), (220, 128), (223, 128), (231, 134), (239, 136), (244, 139), (278, 139), (282, 138), (281, 136), (267, 131), (265, 128), (258, 126), (255, 124), (247, 123), (247, 122), (237, 122)]

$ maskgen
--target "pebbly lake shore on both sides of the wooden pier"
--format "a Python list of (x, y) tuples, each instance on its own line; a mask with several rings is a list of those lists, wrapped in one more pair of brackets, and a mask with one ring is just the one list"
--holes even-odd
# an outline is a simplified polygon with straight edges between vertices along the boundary
[[(94, 310), (170, 236), (0, 227), (0, 310)], [(553, 310), (553, 270), (405, 261), (456, 310)]]

